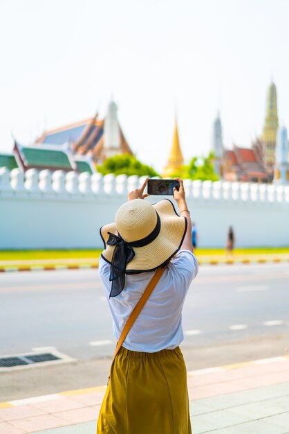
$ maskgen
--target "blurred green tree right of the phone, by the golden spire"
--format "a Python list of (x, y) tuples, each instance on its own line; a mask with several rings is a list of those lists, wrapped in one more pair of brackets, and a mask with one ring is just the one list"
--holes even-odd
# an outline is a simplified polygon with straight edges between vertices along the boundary
[(219, 177), (214, 171), (214, 153), (207, 157), (193, 157), (187, 166), (182, 166), (174, 177), (183, 179), (218, 181)]

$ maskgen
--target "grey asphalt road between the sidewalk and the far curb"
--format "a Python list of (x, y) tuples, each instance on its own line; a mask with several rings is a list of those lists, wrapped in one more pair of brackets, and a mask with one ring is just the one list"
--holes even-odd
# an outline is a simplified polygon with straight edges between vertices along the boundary
[[(183, 310), (188, 370), (288, 354), (287, 263), (201, 266)], [(55, 347), (62, 365), (0, 373), (0, 401), (106, 382), (115, 341), (97, 270), (0, 276), (0, 356)]]

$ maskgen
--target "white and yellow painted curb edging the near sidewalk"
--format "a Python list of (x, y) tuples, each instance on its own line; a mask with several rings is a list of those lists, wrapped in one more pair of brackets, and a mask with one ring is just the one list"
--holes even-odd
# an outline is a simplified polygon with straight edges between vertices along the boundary
[[(270, 363), (281, 363), (289, 360), (289, 356), (279, 356), (272, 358), (261, 358), (255, 361), (241, 362), (241, 363), (232, 363), (231, 365), (223, 365), (216, 367), (207, 367), (201, 370), (188, 371), (187, 376), (200, 376), (206, 374), (214, 374), (216, 372), (226, 372), (231, 370), (237, 370), (243, 367), (250, 367), (256, 365), (267, 365)], [(84, 388), (84, 389), (76, 389), (76, 390), (67, 390), (66, 392), (59, 392), (53, 394), (46, 394), (39, 397), (30, 397), (24, 399), (15, 399), (13, 401), (4, 401), (0, 402), (0, 408), (14, 408), (18, 406), (24, 406), (30, 403), (36, 402), (44, 402), (44, 401), (52, 401), (55, 399), (64, 399), (68, 397), (75, 397), (81, 394), (90, 394), (97, 392), (104, 392), (106, 390), (106, 385), (99, 385), (92, 388)]]

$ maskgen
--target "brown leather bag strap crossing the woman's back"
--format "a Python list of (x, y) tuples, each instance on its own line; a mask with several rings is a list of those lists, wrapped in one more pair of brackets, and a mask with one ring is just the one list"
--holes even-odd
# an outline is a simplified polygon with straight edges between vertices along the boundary
[(120, 339), (118, 340), (118, 345), (115, 348), (113, 360), (114, 360), (115, 356), (118, 354), (118, 351), (120, 351), (120, 347), (122, 346), (124, 339), (127, 337), (127, 333), (129, 333), (129, 330), (133, 326), (133, 323), (136, 321), (136, 318), (138, 318), (138, 315), (142, 311), (143, 306), (145, 306), (149, 296), (153, 292), (153, 289), (155, 288), (156, 284), (158, 284), (158, 281), (160, 280), (160, 277), (162, 277), (162, 273), (164, 271), (165, 271), (165, 267), (164, 268), (158, 268), (158, 270), (156, 270), (152, 279), (149, 281), (147, 288), (145, 288), (145, 292), (142, 294), (142, 297), (140, 297), (140, 300), (136, 304), (136, 307), (131, 312), (129, 319), (127, 320), (126, 324), (124, 325), (124, 328), (122, 329)]

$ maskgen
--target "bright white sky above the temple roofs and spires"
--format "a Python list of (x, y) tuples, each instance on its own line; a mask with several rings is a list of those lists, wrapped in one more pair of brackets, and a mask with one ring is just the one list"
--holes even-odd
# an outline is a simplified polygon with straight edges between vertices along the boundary
[(111, 99), (137, 157), (185, 161), (261, 134), (270, 81), (289, 125), (287, 0), (0, 0), (0, 152), (12, 136), (105, 116)]

